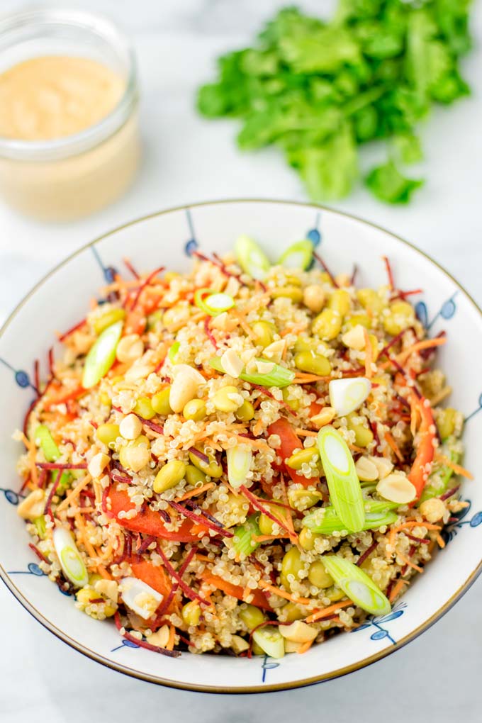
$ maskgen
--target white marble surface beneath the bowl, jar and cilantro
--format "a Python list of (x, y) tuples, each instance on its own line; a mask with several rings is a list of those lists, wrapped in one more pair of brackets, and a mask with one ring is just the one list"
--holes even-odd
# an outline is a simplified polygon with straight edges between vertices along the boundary
[[(226, 197), (304, 200), (298, 178), (277, 153), (238, 155), (236, 124), (194, 113), (194, 89), (221, 51), (242, 46), (278, 0), (84, 0), (64, 2), (111, 14), (132, 34), (142, 84), (145, 163), (116, 205), (74, 224), (41, 226), (0, 202), (0, 317), (52, 265), (92, 237), (170, 205)], [(300, 3), (328, 12), (332, 2)], [(1, 0), (0, 11), (22, 7)], [(482, 41), (482, 7), (473, 29)], [(390, 208), (363, 189), (337, 204), (418, 244), (482, 304), (482, 52), (465, 61), (473, 96), (434, 113), (422, 129), (429, 181), (409, 208)], [(374, 151), (376, 155), (376, 151)], [(369, 159), (366, 159), (369, 161)], [(463, 351), (470, 354), (470, 350)], [(195, 716), (199, 723), (284, 723), (330, 716), (335, 722), (445, 723), (480, 720), (482, 580), (443, 620), (408, 647), (349, 677), (270, 696), (213, 696), (158, 688), (101, 667), (43, 630), (0, 587), (0, 719), (4, 723), (86, 719), (130, 722)], [(88, 715), (88, 718), (87, 718)]]

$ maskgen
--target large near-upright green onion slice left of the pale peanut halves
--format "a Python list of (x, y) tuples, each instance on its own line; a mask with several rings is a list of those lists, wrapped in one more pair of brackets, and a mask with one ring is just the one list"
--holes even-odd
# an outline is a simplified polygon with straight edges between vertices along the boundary
[(340, 432), (327, 426), (318, 432), (318, 449), (332, 505), (343, 524), (349, 530), (358, 532), (363, 529), (365, 508), (348, 445)]

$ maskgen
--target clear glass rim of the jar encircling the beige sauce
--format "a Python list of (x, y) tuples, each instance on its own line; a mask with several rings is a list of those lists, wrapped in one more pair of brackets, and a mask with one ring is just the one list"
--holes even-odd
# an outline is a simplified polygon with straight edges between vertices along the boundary
[(126, 35), (108, 17), (76, 9), (43, 7), (24, 9), (0, 19), (2, 35), (27, 25), (39, 28), (52, 24), (70, 26), (100, 36), (126, 59), (126, 87), (116, 106), (100, 121), (78, 133), (48, 140), (21, 140), (0, 136), (0, 158), (15, 161), (53, 161), (70, 158), (100, 145), (118, 131), (137, 106), (137, 63)]

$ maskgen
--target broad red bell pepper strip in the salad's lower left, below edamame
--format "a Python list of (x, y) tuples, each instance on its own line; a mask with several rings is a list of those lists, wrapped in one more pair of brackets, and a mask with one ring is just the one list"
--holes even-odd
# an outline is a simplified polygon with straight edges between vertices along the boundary
[(161, 537), (173, 542), (197, 542), (197, 536), (191, 532), (192, 522), (190, 520), (184, 520), (176, 532), (170, 532), (165, 529), (165, 523), (160, 514), (149, 507), (137, 513), (132, 519), (119, 518), (120, 512), (133, 510), (135, 508), (134, 503), (131, 501), (126, 489), (119, 489), (114, 485), (109, 489), (107, 497), (111, 500), (111, 509), (107, 508), (107, 512), (115, 517), (125, 529), (143, 532), (152, 537)]

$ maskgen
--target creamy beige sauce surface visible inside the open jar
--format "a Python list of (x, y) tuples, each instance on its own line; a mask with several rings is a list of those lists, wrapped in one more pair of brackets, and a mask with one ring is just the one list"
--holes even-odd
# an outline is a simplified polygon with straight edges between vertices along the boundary
[(0, 74), (0, 136), (52, 140), (79, 133), (105, 118), (124, 89), (124, 79), (95, 60), (25, 60)]

